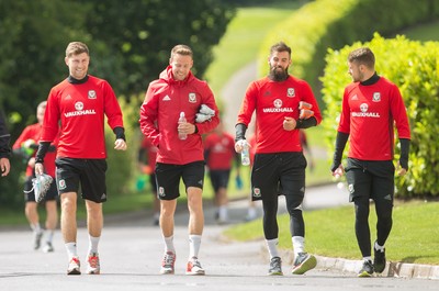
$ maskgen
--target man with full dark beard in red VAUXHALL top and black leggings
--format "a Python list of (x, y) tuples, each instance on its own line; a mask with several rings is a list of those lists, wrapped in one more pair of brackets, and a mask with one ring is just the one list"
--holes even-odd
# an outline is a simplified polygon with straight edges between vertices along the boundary
[[(247, 143), (245, 133), (256, 111), (256, 155), (251, 169), (251, 198), (262, 200), (263, 234), (270, 254), (269, 275), (283, 275), (278, 251), (278, 194), (284, 194), (290, 214), (294, 248), (292, 272), (302, 275), (316, 266), (316, 258), (305, 251), (305, 223), (302, 202), (305, 195), (306, 159), (300, 130), (322, 121), (316, 99), (307, 82), (290, 76), (291, 48), (274, 44), (268, 58), (270, 74), (249, 85), (238, 113), (236, 152)], [(306, 103), (307, 114), (302, 104)]]

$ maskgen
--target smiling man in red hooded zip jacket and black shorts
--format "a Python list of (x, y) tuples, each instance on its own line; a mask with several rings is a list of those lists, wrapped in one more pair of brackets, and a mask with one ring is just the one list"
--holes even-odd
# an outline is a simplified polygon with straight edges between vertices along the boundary
[[(192, 49), (177, 45), (171, 51), (169, 66), (158, 80), (149, 83), (140, 108), (140, 130), (158, 147), (156, 178), (160, 199), (160, 227), (165, 240), (165, 256), (160, 273), (173, 273), (173, 214), (180, 195), (180, 179), (188, 193), (189, 260), (187, 275), (204, 275), (199, 261), (201, 235), (204, 227), (203, 186), (204, 156), (201, 135), (216, 127), (218, 110), (212, 90), (205, 81), (192, 75)], [(203, 105), (212, 116), (195, 122)], [(187, 122), (179, 122), (184, 112)], [(179, 133), (187, 135), (180, 139)]]

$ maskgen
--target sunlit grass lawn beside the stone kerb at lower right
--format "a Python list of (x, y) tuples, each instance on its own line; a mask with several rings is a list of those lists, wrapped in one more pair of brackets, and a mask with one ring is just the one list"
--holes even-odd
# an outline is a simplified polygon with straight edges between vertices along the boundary
[[(353, 230), (353, 206), (304, 213), (306, 249), (309, 253), (348, 259), (361, 259)], [(386, 243), (391, 261), (439, 265), (439, 202), (398, 202), (394, 208), (393, 230)], [(376, 216), (371, 205), (372, 239), (376, 234)], [(279, 246), (291, 249), (288, 215), (279, 216)], [(236, 240), (263, 239), (261, 220), (232, 226), (224, 233)]]

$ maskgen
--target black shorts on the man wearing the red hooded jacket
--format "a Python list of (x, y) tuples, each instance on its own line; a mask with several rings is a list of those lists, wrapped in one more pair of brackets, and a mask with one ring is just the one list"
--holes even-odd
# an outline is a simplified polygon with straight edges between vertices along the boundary
[(189, 187), (203, 189), (204, 165), (204, 160), (193, 161), (185, 165), (157, 163), (157, 197), (160, 200), (173, 200), (179, 198), (180, 178), (183, 179), (187, 191)]

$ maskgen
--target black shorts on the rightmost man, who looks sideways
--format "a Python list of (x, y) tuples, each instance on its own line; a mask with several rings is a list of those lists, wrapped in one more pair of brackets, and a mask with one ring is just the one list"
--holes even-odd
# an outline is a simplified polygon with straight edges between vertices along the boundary
[(348, 158), (345, 168), (349, 201), (356, 197), (393, 201), (395, 166), (392, 160), (359, 160)]

